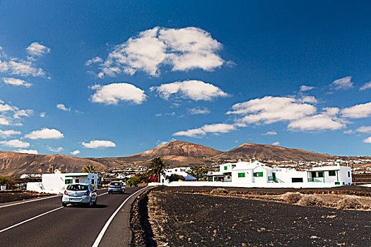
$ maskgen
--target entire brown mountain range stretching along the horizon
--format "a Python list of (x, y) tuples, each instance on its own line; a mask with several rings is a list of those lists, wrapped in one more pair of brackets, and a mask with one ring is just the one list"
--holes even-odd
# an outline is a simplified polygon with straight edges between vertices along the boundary
[(61, 171), (78, 172), (90, 164), (97, 171), (121, 167), (123, 164), (135, 164), (146, 167), (150, 164), (151, 159), (155, 157), (163, 157), (166, 164), (170, 167), (185, 167), (196, 164), (208, 166), (213, 162), (233, 159), (258, 159), (261, 161), (324, 161), (336, 159), (335, 156), (331, 155), (254, 143), (244, 143), (227, 152), (220, 152), (211, 147), (175, 140), (151, 150), (126, 157), (80, 158), (69, 155), (28, 155), (18, 152), (0, 151), (0, 175), (39, 174), (51, 172), (52, 167)]

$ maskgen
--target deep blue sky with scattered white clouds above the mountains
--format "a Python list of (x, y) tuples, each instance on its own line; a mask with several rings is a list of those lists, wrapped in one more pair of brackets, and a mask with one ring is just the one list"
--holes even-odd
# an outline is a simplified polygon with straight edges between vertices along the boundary
[(0, 1), (0, 150), (371, 155), (368, 1)]

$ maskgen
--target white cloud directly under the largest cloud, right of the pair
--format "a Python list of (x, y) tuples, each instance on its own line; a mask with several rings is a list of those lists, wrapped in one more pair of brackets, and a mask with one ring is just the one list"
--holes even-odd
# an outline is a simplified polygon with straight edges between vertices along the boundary
[(189, 98), (192, 100), (212, 100), (215, 97), (227, 97), (228, 94), (211, 83), (204, 83), (201, 80), (184, 80), (175, 83), (165, 83), (151, 87), (151, 91), (156, 91), (165, 100), (171, 95)]

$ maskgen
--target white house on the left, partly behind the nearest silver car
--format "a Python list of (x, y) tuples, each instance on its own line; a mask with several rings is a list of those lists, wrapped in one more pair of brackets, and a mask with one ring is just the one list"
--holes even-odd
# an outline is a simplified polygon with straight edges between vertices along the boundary
[(98, 174), (93, 173), (64, 173), (64, 174), (42, 174), (41, 183), (27, 183), (28, 191), (44, 193), (63, 193), (66, 184), (69, 183), (91, 183), (98, 187)]

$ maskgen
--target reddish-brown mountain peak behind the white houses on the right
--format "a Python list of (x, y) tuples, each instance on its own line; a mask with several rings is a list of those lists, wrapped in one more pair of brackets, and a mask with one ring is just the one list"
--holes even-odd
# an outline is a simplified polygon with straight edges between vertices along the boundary
[(258, 159), (258, 160), (294, 160), (294, 161), (321, 161), (335, 159), (331, 155), (323, 155), (306, 150), (278, 147), (273, 145), (261, 145), (255, 143), (244, 143), (227, 152), (213, 156), (212, 159)]

